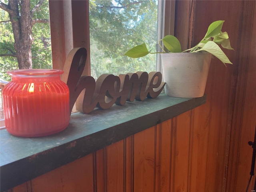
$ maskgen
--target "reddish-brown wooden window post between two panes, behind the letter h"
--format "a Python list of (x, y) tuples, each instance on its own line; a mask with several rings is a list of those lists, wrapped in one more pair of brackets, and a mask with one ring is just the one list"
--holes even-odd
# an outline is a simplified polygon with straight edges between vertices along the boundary
[(90, 30), (88, 0), (49, 0), (52, 67), (63, 70), (70, 50), (85, 47), (83, 75), (90, 76)]

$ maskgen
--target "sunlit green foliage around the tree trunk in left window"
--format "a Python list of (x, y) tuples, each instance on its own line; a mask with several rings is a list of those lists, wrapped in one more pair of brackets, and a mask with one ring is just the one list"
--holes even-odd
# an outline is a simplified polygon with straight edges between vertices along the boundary
[[(5, 0), (5, 4), (8, 1)], [(31, 0), (31, 8), (33, 8), (38, 0)], [(18, 69), (16, 52), (14, 50), (14, 36), (12, 32), (12, 24), (8, 12), (0, 9), (0, 78), (10, 81), (11, 78), (6, 74), (7, 70)], [(43, 4), (32, 15), (33, 19), (49, 19), (48, 1)], [(52, 68), (52, 51), (50, 39), (50, 23), (36, 23), (32, 28), (32, 64), (33, 68)], [(4, 56), (2, 56), (4, 55)]]

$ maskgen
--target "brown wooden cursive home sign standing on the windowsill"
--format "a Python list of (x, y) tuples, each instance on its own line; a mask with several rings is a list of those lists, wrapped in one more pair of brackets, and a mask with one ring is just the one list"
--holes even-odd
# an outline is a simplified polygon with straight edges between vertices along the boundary
[(120, 74), (103, 74), (95, 82), (92, 76), (82, 76), (87, 51), (74, 48), (68, 54), (61, 80), (70, 90), (70, 114), (76, 102), (76, 109), (90, 113), (95, 107), (108, 109), (113, 104), (124, 105), (134, 99), (143, 101), (146, 97), (156, 98), (163, 90), (160, 72), (136, 72)]

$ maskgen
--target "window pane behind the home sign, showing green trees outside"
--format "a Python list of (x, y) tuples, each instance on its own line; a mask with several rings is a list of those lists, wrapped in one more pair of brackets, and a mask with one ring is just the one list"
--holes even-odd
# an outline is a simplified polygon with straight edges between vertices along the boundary
[(155, 71), (156, 54), (129, 58), (125, 52), (146, 43), (155, 51), (158, 0), (90, 0), (91, 75)]

